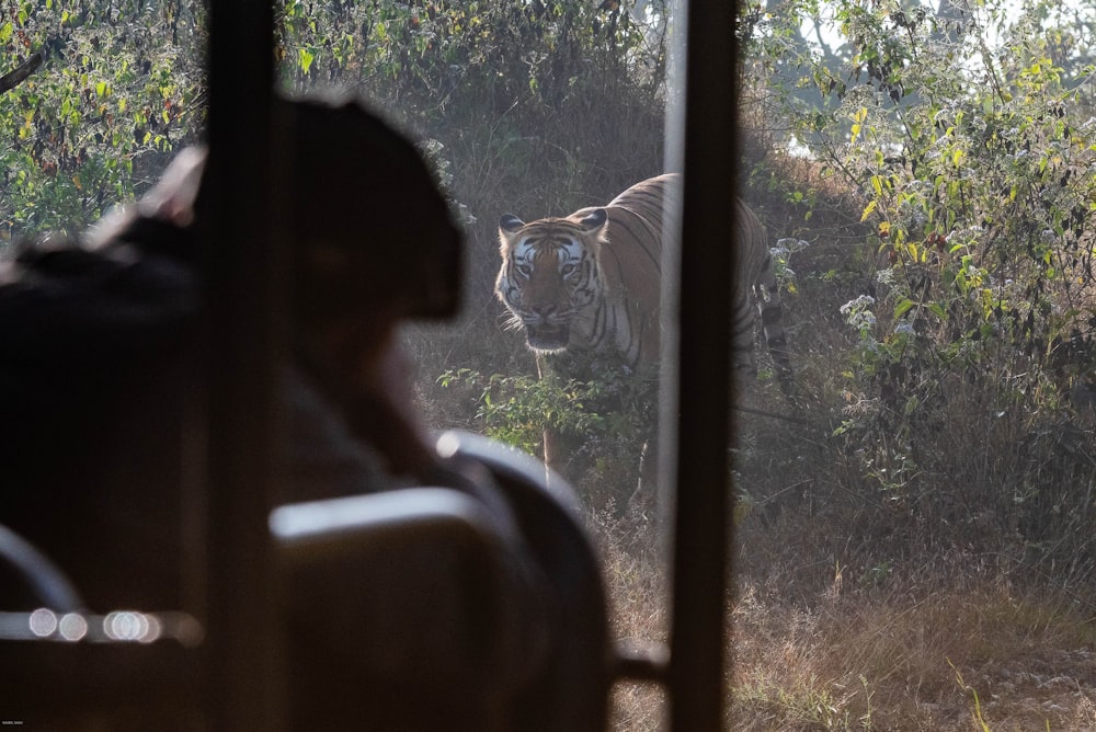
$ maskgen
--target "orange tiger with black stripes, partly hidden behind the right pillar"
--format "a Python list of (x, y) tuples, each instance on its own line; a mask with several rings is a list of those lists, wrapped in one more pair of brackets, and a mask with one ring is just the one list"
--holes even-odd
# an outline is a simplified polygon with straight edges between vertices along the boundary
[[(499, 219), (502, 266), (495, 294), (537, 354), (614, 354), (629, 370), (657, 363), (661, 343), (662, 235), (676, 230), (681, 175), (641, 181), (607, 206), (526, 224)], [(756, 376), (754, 325), (760, 314), (777, 376), (788, 390), (791, 362), (780, 289), (765, 227), (734, 202), (738, 266), (733, 288), (734, 369)], [(756, 307), (755, 307), (756, 304)]]

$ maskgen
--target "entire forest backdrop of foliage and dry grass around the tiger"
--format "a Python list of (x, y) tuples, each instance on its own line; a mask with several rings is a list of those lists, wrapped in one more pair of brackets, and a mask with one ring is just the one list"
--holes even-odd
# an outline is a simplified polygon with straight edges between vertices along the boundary
[[(431, 425), (580, 437), (568, 477), (631, 638), (665, 632), (660, 525), (631, 502), (657, 384), (537, 380), (495, 225), (662, 171), (666, 18), (276, 2), (279, 87), (368, 100), (466, 228), (464, 314), (407, 332)], [(204, 27), (182, 0), (0, 3), (0, 250), (83, 230), (201, 139)], [(788, 401), (763, 366), (734, 412), (734, 729), (1096, 729), (1096, 18), (772, 0), (731, 34), (728, 175), (769, 228), (797, 374)], [(658, 708), (621, 688), (615, 724)]]

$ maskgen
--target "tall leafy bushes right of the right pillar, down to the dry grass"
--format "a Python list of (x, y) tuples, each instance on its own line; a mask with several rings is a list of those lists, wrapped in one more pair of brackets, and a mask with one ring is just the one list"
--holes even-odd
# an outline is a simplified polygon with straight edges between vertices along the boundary
[(765, 159), (751, 180), (815, 214), (789, 232), (812, 252), (825, 191), (864, 227), (833, 245), (836, 266), (792, 260), (806, 298), (844, 293), (821, 316), (829, 363), (802, 361), (807, 407), (840, 411), (833, 472), (814, 480), (836, 487), (826, 510), (875, 527), (838, 534), (903, 537), (900, 553), (1019, 546), (1081, 576), (1096, 569), (1080, 528), (1096, 519), (1096, 84), (1078, 41), (1093, 19), (1040, 0), (959, 8), (791, 0), (739, 28), (747, 118), (813, 185)]

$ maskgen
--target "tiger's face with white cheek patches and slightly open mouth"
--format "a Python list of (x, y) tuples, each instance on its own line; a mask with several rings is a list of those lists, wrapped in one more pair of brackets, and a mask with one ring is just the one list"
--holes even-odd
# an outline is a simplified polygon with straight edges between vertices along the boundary
[(603, 208), (529, 224), (512, 214), (499, 220), (495, 294), (534, 351), (562, 351), (576, 340), (576, 329), (589, 330), (601, 296), (597, 251), (606, 220)]

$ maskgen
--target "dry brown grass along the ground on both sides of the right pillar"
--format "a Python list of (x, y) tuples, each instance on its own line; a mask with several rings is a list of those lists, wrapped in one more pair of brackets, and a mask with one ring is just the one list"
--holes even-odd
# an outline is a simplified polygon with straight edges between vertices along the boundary
[[(637, 553), (653, 528), (633, 533), (630, 521), (595, 521), (614, 632), (661, 641), (663, 562)], [(786, 526), (763, 544), (795, 544)], [(802, 559), (738, 579), (728, 729), (1096, 730), (1092, 597), (958, 556), (874, 582)], [(663, 711), (658, 688), (618, 685), (613, 729), (660, 729)]]

